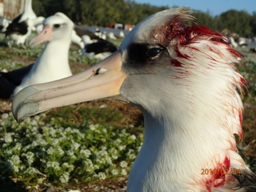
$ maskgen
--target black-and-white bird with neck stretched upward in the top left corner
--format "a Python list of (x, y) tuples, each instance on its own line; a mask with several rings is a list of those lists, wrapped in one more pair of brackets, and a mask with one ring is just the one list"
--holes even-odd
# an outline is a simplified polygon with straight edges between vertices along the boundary
[(24, 49), (26, 38), (31, 35), (31, 31), (36, 24), (43, 22), (44, 17), (36, 17), (32, 9), (32, 0), (26, 0), (23, 13), (13, 19), (12, 23), (7, 27), (5, 35), (8, 36), (8, 46), (12, 47), (12, 42), (17, 45), (21, 44)]

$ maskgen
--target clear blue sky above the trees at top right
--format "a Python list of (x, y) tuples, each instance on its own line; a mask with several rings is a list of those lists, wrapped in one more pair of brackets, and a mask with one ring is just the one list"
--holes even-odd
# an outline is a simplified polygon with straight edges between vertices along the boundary
[(207, 12), (212, 16), (228, 10), (245, 10), (252, 15), (256, 12), (256, 0), (135, 0), (136, 3), (149, 3), (156, 6), (186, 6), (193, 10)]

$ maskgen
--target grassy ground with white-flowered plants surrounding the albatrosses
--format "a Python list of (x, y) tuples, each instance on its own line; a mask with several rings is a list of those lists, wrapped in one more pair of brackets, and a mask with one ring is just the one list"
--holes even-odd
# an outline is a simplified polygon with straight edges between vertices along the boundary
[[(0, 70), (33, 63), (44, 47), (10, 49), (5, 40), (0, 36)], [(241, 61), (246, 69), (238, 68), (248, 81), (243, 99), (244, 141), (238, 147), (256, 173), (256, 54), (249, 50), (238, 50), (246, 59)], [(75, 46), (70, 49), (73, 73), (96, 62), (81, 56)], [(86, 102), (45, 111), (17, 124), (10, 113), (11, 101), (0, 102), (5, 104), (0, 105), (0, 190), (40, 191), (47, 184), (81, 191), (105, 185), (109, 191), (118, 191), (121, 183), (120, 191), (125, 190), (124, 180), (143, 142), (140, 110), (123, 102)], [(89, 189), (88, 184), (95, 185)]]

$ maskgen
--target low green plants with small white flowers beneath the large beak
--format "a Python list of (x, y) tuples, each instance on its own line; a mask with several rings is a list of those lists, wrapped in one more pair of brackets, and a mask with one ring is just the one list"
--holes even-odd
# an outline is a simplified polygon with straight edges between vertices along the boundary
[(64, 118), (45, 121), (42, 113), (21, 124), (12, 113), (2, 115), (0, 180), (65, 184), (127, 175), (142, 145), (142, 129), (128, 131), (86, 120), (72, 125), (70, 109), (61, 111)]

